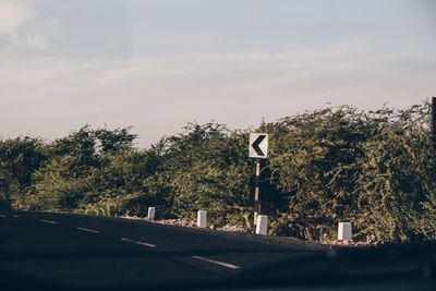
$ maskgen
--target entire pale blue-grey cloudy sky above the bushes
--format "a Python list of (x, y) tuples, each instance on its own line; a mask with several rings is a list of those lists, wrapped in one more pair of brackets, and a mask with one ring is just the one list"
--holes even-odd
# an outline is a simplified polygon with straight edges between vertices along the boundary
[(436, 96), (432, 0), (0, 0), (0, 137), (189, 122), (249, 129), (331, 102)]

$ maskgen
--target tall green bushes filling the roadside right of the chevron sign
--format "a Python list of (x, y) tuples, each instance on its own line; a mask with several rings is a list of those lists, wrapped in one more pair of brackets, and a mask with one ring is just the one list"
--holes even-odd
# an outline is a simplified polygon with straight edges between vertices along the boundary
[(289, 203), (271, 232), (332, 240), (337, 222), (351, 221), (356, 238), (434, 239), (428, 116), (422, 105), (368, 113), (326, 108), (283, 119), (286, 133), (271, 138), (270, 167), (271, 183)]

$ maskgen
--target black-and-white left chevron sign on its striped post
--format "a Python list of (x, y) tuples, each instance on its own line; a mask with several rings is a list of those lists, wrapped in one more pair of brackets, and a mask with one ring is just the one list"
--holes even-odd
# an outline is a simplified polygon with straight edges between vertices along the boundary
[(257, 225), (257, 216), (261, 215), (259, 180), (261, 180), (261, 159), (268, 157), (268, 134), (251, 133), (249, 157), (256, 159), (256, 187), (254, 190), (254, 225)]

